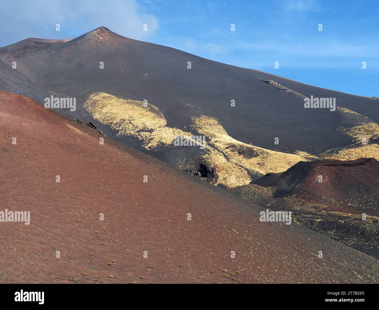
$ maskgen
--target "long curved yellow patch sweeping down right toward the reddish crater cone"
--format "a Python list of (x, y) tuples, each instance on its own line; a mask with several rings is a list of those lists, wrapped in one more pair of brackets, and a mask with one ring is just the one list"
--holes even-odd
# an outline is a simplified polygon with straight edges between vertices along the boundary
[[(266, 150), (240, 142), (230, 137), (218, 120), (213, 117), (205, 115), (194, 117), (193, 123), (194, 128), (207, 136), (216, 150), (225, 154), (228, 162), (258, 175), (283, 172), (301, 160), (307, 161), (307, 157), (314, 157)], [(232, 174), (232, 171), (229, 174)], [(246, 181), (240, 183), (247, 184)]]

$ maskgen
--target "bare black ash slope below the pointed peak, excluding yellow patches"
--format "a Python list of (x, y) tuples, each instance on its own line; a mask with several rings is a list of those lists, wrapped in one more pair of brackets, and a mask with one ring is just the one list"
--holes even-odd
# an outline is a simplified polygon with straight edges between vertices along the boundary
[[(42, 42), (38, 44), (37, 40)], [(8, 65), (11, 61), (18, 62), (17, 70), (2, 70), (1, 76), (8, 78), (8, 87), (13, 92), (20, 88), (16, 76), (19, 71), (29, 79), (30, 86), (34, 86), (31, 95), (39, 102), (43, 102), (49, 92), (76, 97), (80, 103), (99, 91), (140, 101), (146, 99), (160, 109), (171, 126), (179, 128), (189, 125), (188, 115), (182, 115), (182, 104), (189, 103), (200, 107), (202, 114), (218, 117), (230, 136), (237, 140), (268, 149), (282, 146), (292, 153), (296, 150), (312, 153), (315, 148), (326, 151), (351, 143), (335, 130), (341, 125), (335, 113), (327, 109), (304, 109), (302, 100), (264, 83), (263, 79), (272, 79), (305, 96), (335, 97), (338, 106), (374, 120), (379, 117), (377, 101), (370, 98), (321, 89), (174, 48), (128, 39), (104, 27), (67, 42), (20, 41), (0, 48), (0, 59)], [(104, 69), (99, 69), (101, 61)], [(188, 61), (191, 69), (187, 69)], [(230, 106), (232, 99), (235, 107)], [(192, 108), (185, 112), (190, 115), (197, 110)], [(273, 143), (277, 136), (279, 146)]]

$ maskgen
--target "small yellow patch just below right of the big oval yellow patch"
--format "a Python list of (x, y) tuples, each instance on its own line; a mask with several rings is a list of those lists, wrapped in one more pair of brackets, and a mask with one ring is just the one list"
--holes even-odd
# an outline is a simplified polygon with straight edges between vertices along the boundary
[(149, 148), (155, 148), (159, 145), (162, 145), (162, 146), (173, 145), (175, 137), (179, 137), (180, 134), (182, 134), (183, 137), (192, 136), (192, 134), (189, 132), (185, 132), (178, 128), (171, 128), (171, 127), (160, 127), (153, 130), (152, 132), (141, 131), (135, 134), (135, 136), (138, 137), (138, 139), (143, 140), (144, 147), (149, 149)]

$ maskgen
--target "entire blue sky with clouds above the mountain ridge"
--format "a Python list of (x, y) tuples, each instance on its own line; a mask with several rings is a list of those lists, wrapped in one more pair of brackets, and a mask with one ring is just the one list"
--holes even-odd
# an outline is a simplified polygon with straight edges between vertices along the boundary
[(0, 8), (0, 46), (28, 37), (72, 38), (105, 26), (238, 67), (379, 97), (377, 0), (2, 0)]

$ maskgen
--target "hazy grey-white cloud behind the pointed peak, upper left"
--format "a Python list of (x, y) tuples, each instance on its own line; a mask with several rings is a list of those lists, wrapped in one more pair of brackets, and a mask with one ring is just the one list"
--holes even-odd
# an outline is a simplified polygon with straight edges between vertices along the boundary
[[(72, 38), (100, 26), (122, 36), (145, 40), (159, 27), (157, 17), (135, 0), (2, 0), (2, 7), (7, 10), (0, 12), (1, 46), (28, 37)], [(57, 23), (61, 31), (55, 31)], [(145, 23), (148, 31), (143, 31)]]

